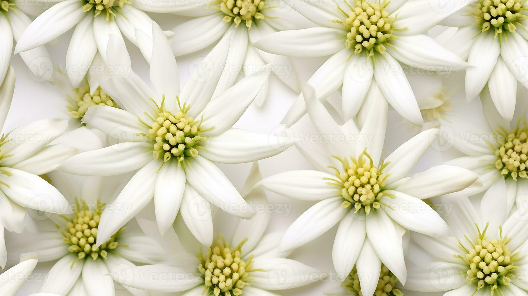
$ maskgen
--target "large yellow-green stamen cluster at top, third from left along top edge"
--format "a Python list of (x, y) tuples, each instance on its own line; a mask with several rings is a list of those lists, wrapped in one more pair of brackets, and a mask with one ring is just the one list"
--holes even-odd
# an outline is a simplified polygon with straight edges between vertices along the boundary
[(387, 5), (389, 1), (378, 4), (356, 0), (355, 7), (348, 4), (352, 10), (350, 13), (346, 13), (338, 6), (338, 9), (345, 14), (346, 20), (345, 22), (333, 20), (333, 22), (340, 23), (350, 30), (346, 34), (346, 48), (353, 48), (354, 53), (365, 50), (367, 57), (373, 56), (374, 51), (385, 53), (385, 45), (390, 46), (388, 41), (397, 38), (392, 35), (395, 18), (389, 17), (389, 13), (385, 11)]

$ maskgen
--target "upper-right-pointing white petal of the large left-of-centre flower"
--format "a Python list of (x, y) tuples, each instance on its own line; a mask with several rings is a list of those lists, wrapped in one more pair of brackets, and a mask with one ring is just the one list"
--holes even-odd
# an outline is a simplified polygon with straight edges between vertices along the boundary
[(207, 134), (220, 135), (232, 127), (257, 96), (268, 77), (269, 72), (245, 77), (210, 101), (201, 113), (202, 127), (212, 128)]

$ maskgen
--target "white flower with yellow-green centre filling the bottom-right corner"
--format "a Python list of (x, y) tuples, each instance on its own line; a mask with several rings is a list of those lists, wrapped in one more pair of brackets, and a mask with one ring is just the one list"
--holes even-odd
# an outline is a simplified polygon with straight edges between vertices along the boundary
[[(502, 186), (504, 190), (504, 182)], [(414, 258), (421, 261), (408, 264), (405, 289), (423, 292), (455, 289), (445, 293), (446, 296), (528, 294), (526, 209), (510, 216), (510, 207), (500, 198), (500, 192), (490, 191), (485, 193), (479, 212), (465, 196), (439, 198), (442, 204), (450, 205), (450, 211), (444, 211), (443, 215), (453, 236), (411, 235), (411, 240), (425, 252), (417, 248), (421, 252), (414, 253)]]

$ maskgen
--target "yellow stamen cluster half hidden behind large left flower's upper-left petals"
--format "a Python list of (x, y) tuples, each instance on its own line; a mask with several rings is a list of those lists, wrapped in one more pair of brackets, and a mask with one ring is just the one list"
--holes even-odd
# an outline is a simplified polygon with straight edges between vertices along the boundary
[(73, 118), (82, 119), (84, 114), (91, 106), (110, 106), (120, 108), (117, 103), (104, 91), (98, 87), (93, 94), (90, 94), (90, 86), (88, 83), (81, 87), (73, 89), (73, 98), (67, 96), (66, 99), (70, 103), (68, 110)]

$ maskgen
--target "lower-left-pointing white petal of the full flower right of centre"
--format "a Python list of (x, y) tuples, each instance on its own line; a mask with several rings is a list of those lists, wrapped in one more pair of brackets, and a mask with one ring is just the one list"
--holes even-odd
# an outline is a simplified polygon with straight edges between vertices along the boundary
[(348, 212), (343, 208), (343, 197), (328, 198), (317, 202), (314, 206), (300, 215), (297, 220), (286, 230), (279, 251), (291, 251), (334, 227)]

